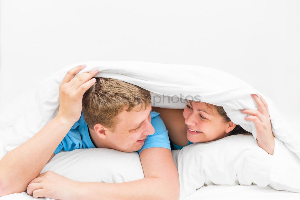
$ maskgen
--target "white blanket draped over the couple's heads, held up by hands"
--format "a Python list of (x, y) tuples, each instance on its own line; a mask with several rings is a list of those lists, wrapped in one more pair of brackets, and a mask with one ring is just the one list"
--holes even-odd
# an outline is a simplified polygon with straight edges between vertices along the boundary
[[(152, 105), (164, 108), (184, 108), (182, 99), (201, 100), (223, 106), (228, 117), (251, 132), (256, 139), (255, 125), (245, 121), (240, 109), (257, 109), (250, 94), (260, 94), (252, 86), (237, 77), (207, 67), (182, 64), (158, 64), (137, 61), (87, 61), (72, 64), (44, 79), (35, 91), (35, 99), (28, 97), (24, 115), (10, 117), (3, 121), (13, 126), (13, 140), (6, 145), (6, 151), (21, 145), (37, 133), (57, 115), (60, 85), (71, 68), (86, 64), (82, 71), (99, 69), (98, 77), (120, 79), (151, 91)], [(247, 74), (245, 74), (247, 75)], [(30, 95), (30, 94), (28, 94)], [(262, 95), (262, 94), (260, 94)], [(172, 97), (172, 98), (171, 98)], [(286, 122), (274, 103), (262, 95), (269, 107), (272, 131), (275, 138), (270, 180), (291, 188), (300, 189), (300, 135)], [(29, 102), (30, 100), (30, 102)], [(26, 101), (26, 100), (25, 100)], [(5, 117), (5, 116), (4, 116)], [(199, 163), (201, 164), (201, 163)]]

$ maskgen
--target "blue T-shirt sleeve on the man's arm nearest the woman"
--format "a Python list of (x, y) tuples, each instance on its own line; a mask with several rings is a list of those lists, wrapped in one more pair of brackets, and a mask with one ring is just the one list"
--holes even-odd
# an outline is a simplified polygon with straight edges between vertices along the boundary
[(150, 115), (151, 115), (151, 124), (155, 129), (155, 133), (153, 135), (149, 135), (146, 138), (145, 144), (138, 151), (139, 154), (144, 149), (152, 148), (152, 147), (162, 147), (162, 148), (167, 148), (167, 149), (171, 150), (168, 131), (165, 127), (163, 120), (160, 117), (160, 114), (158, 112), (152, 111), (150, 113)]

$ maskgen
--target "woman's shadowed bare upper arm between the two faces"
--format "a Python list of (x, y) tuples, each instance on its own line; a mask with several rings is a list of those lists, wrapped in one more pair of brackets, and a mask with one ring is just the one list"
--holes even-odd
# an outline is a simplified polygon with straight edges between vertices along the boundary
[(169, 109), (152, 107), (152, 110), (161, 114), (161, 119), (168, 130), (170, 140), (179, 146), (188, 144), (187, 126), (183, 117), (183, 109)]

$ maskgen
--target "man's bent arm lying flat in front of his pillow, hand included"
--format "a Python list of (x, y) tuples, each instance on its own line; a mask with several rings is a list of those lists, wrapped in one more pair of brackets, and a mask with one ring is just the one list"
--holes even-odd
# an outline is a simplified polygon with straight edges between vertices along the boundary
[(35, 198), (44, 196), (62, 200), (179, 199), (179, 178), (171, 151), (147, 148), (140, 157), (145, 175), (140, 180), (125, 183), (77, 182), (51, 172), (32, 180), (27, 192)]

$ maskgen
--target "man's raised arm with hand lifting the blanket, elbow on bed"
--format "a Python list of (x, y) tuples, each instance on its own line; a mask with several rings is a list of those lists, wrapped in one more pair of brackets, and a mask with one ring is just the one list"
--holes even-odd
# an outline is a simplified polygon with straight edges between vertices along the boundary
[(84, 66), (69, 70), (59, 87), (58, 115), (35, 136), (8, 152), (0, 160), (0, 196), (24, 192), (44, 168), (55, 148), (79, 119), (82, 95), (95, 83), (92, 71), (75, 76)]

